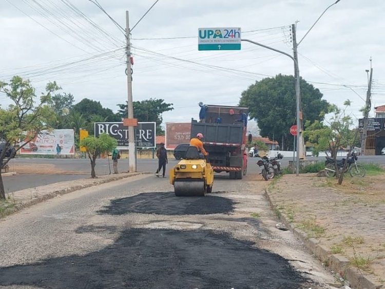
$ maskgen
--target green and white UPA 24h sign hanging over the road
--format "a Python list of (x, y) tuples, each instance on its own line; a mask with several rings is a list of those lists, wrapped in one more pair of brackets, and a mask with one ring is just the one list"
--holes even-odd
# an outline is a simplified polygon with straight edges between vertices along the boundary
[(240, 50), (241, 28), (199, 28), (198, 50)]

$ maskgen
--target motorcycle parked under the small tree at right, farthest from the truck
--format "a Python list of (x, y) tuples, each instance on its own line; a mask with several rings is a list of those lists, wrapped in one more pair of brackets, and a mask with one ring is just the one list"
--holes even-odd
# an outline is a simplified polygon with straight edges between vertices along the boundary
[[(337, 160), (338, 173), (340, 174), (342, 172), (345, 161), (347, 161), (348, 164), (345, 167), (343, 173), (349, 171), (349, 174), (351, 177), (363, 178), (366, 175), (366, 170), (363, 166), (357, 164), (357, 160), (358, 160), (358, 158), (357, 158), (356, 152), (352, 152), (352, 154), (349, 156), (348, 160), (347, 159)], [(336, 167), (335, 167), (334, 159), (326, 156), (325, 176), (326, 177), (334, 177), (335, 175), (336, 175)]]

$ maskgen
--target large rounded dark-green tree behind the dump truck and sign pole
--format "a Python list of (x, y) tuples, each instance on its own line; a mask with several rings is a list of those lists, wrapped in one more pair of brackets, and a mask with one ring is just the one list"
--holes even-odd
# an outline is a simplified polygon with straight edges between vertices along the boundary
[[(329, 103), (322, 100), (317, 88), (302, 78), (300, 88), (303, 121), (322, 121)], [(293, 136), (289, 128), (296, 122), (294, 76), (278, 74), (275, 78), (257, 81), (242, 92), (239, 105), (249, 108), (249, 118), (258, 122), (261, 136), (279, 140), (282, 149), (291, 146)]]

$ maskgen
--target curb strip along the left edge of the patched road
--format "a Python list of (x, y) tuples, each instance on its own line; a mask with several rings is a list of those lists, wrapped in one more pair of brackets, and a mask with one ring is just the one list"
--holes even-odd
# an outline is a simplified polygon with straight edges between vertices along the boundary
[[(73, 192), (76, 190), (80, 190), (80, 189), (84, 189), (84, 188), (88, 188), (88, 187), (92, 187), (92, 186), (97, 186), (97, 185), (101, 185), (101, 184), (109, 183), (109, 182), (113, 182), (113, 181), (118, 181), (121, 179), (126, 179), (126, 178), (130, 178), (130, 177), (138, 176), (138, 175), (147, 175), (147, 174), (150, 174), (150, 173), (149, 172), (131, 172), (131, 173), (126, 173), (126, 174), (124, 174), (124, 173), (119, 174), (118, 176), (111, 176), (108, 178), (101, 177), (101, 178), (95, 178), (95, 179), (83, 179), (83, 180), (89, 180), (90, 182), (86, 183), (86, 184), (82, 184), (82, 185), (72, 185), (72, 186), (71, 185), (68, 186), (68, 183), (71, 183), (73, 181), (60, 182), (60, 184), (63, 186), (63, 188), (50, 191), (47, 194), (43, 193), (41, 196), (35, 197), (33, 199), (29, 199), (29, 200), (25, 201), (22, 199), (18, 200), (17, 198), (15, 198), (16, 205), (14, 207), (8, 208), (6, 211), (4, 211), (2, 217), (11, 215), (18, 210), (21, 210), (23, 208), (27, 208), (27, 207), (30, 207), (32, 205), (41, 203), (43, 201), (52, 199), (52, 198), (59, 196), (59, 195), (65, 195), (65, 194), (69, 194), (70, 192)], [(109, 175), (106, 175), (106, 176), (109, 176)], [(79, 181), (79, 180), (77, 180), (77, 181)], [(56, 183), (56, 184), (58, 184), (58, 183)], [(52, 184), (40, 186), (40, 187), (46, 187), (46, 186), (52, 186)], [(28, 190), (28, 189), (26, 189), (26, 190)]]

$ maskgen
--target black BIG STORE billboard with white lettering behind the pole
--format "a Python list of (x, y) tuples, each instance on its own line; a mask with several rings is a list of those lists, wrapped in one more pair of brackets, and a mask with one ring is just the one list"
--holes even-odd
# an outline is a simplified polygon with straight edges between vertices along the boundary
[[(135, 127), (136, 147), (156, 147), (156, 127), (155, 122), (138, 122), (138, 126)], [(97, 122), (94, 123), (94, 131), (95, 137), (108, 133), (110, 137), (118, 141), (119, 149), (128, 148), (128, 127), (123, 126), (123, 122)]]

